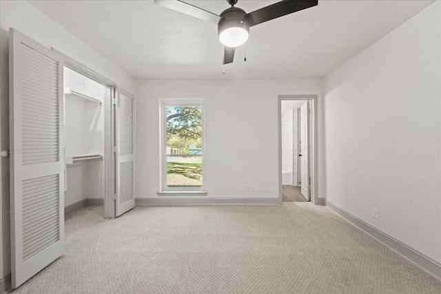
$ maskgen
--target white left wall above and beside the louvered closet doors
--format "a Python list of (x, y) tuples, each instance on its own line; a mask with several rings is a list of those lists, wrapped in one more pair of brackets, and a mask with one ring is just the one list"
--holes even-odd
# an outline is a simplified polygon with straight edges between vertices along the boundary
[[(53, 47), (134, 93), (135, 81), (125, 72), (61, 28), (25, 1), (0, 1), (1, 149), (9, 149), (8, 30), (16, 28), (39, 43)], [(10, 273), (9, 159), (1, 158), (0, 281)]]

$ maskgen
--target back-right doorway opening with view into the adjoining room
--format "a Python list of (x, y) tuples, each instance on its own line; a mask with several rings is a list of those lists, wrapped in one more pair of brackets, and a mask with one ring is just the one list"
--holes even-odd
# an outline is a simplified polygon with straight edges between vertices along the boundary
[(279, 198), (313, 202), (316, 96), (279, 96)]

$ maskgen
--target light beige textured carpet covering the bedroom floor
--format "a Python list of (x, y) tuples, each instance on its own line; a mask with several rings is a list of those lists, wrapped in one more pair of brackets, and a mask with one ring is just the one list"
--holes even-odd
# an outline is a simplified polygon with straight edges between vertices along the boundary
[(67, 215), (65, 254), (14, 293), (441, 293), (441, 282), (309, 202), (103, 207)]

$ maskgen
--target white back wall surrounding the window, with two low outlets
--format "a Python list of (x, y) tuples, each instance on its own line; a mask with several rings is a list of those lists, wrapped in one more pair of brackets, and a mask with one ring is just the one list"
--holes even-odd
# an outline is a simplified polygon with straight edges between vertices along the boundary
[[(137, 198), (159, 191), (159, 98), (205, 98), (209, 198), (277, 198), (278, 95), (317, 94), (322, 107), (321, 80), (139, 81), (136, 94)], [(322, 131), (319, 121), (319, 149)], [(243, 192), (244, 184), (259, 191)]]

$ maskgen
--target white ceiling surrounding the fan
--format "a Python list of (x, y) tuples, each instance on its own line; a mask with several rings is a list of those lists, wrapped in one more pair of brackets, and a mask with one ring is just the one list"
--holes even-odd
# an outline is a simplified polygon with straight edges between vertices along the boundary
[[(220, 14), (225, 0), (186, 1)], [(239, 0), (246, 12), (278, 1)], [(222, 73), (217, 27), (144, 1), (28, 1), (115, 65), (141, 78), (321, 78), (433, 0), (319, 0), (261, 23)]]

